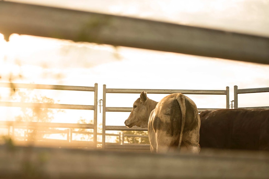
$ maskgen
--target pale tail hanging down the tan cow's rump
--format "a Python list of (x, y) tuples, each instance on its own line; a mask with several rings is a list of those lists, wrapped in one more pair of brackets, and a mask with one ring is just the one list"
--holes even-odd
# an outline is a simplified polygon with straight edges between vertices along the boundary
[(186, 104), (185, 104), (186, 97), (183, 94), (179, 93), (176, 98), (179, 103), (181, 114), (182, 114), (182, 120), (181, 120), (182, 124), (181, 124), (181, 129), (180, 129), (179, 146), (178, 146), (180, 150), (180, 145), (181, 145), (182, 137), (183, 137), (183, 129), (185, 126), (185, 121), (186, 121)]

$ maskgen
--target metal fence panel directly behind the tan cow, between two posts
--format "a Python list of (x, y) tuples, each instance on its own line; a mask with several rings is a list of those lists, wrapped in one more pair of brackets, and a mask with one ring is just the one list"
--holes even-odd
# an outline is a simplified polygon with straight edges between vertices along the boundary
[[(131, 112), (132, 107), (108, 107), (106, 106), (106, 94), (107, 93), (130, 93), (140, 94), (142, 91), (145, 91), (149, 94), (172, 94), (172, 93), (182, 93), (182, 94), (203, 94), (203, 95), (226, 95), (226, 108), (229, 109), (229, 87), (226, 87), (226, 90), (173, 90), (173, 89), (117, 89), (117, 88), (106, 88), (106, 85), (103, 85), (103, 131), (106, 130), (135, 130), (135, 131), (146, 131), (147, 128), (140, 128), (140, 127), (132, 127), (127, 128), (126, 126), (107, 126), (105, 125), (106, 122), (106, 112)], [(206, 111), (206, 110), (216, 110), (217, 108), (198, 108), (198, 111)], [(124, 148), (124, 149), (133, 149), (134, 145), (127, 147), (127, 146), (114, 146), (114, 145), (106, 145), (105, 144), (105, 136), (103, 134), (103, 149), (110, 149), (116, 147)], [(149, 149), (149, 145), (137, 145), (137, 149)]]

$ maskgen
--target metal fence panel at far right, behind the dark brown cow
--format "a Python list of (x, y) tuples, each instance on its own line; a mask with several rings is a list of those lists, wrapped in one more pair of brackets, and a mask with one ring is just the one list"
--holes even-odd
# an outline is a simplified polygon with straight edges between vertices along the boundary
[[(234, 109), (239, 109), (238, 108), (238, 94), (269, 92), (269, 87), (265, 87), (265, 88), (238, 89), (237, 85), (235, 85), (233, 89), (234, 89)], [(243, 109), (269, 109), (269, 106), (261, 106), (261, 107), (240, 107), (240, 108), (243, 108)]]

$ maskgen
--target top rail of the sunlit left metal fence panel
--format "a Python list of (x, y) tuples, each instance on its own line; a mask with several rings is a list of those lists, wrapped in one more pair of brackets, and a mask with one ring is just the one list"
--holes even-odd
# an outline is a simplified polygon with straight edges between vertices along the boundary
[(71, 91), (88, 91), (88, 92), (94, 92), (94, 90), (95, 90), (95, 87), (25, 84), (25, 83), (0, 83), (0, 87), (27, 88), (27, 89), (49, 89), (49, 90), (71, 90)]

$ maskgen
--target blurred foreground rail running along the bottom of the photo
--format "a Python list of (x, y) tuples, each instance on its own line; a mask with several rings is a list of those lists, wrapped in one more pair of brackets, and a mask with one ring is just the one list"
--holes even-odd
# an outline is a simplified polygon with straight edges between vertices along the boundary
[(199, 155), (0, 146), (0, 178), (268, 178), (269, 153)]

